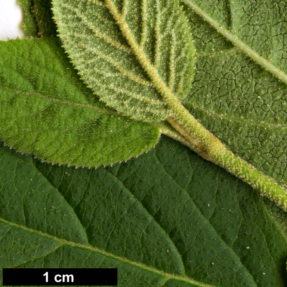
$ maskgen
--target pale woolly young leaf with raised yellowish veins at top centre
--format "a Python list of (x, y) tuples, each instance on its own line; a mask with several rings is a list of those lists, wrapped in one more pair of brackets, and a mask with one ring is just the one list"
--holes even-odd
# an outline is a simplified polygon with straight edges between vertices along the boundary
[(178, 98), (187, 94), (195, 50), (178, 0), (55, 0), (53, 12), (72, 62), (109, 106), (134, 119), (164, 120), (155, 73)]

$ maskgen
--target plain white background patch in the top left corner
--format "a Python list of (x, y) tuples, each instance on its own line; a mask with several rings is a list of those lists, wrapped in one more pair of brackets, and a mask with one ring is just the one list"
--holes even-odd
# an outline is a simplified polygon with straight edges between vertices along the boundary
[(25, 31), (20, 28), (25, 19), (24, 10), (17, 1), (0, 0), (0, 40), (26, 36)]

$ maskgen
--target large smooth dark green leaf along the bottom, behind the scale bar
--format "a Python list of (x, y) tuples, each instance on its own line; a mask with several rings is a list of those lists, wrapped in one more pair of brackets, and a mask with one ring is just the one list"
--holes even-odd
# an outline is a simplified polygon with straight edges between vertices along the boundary
[(116, 267), (118, 286), (285, 286), (286, 238), (257, 193), (172, 139), (96, 170), (3, 146), (0, 159), (1, 268)]

